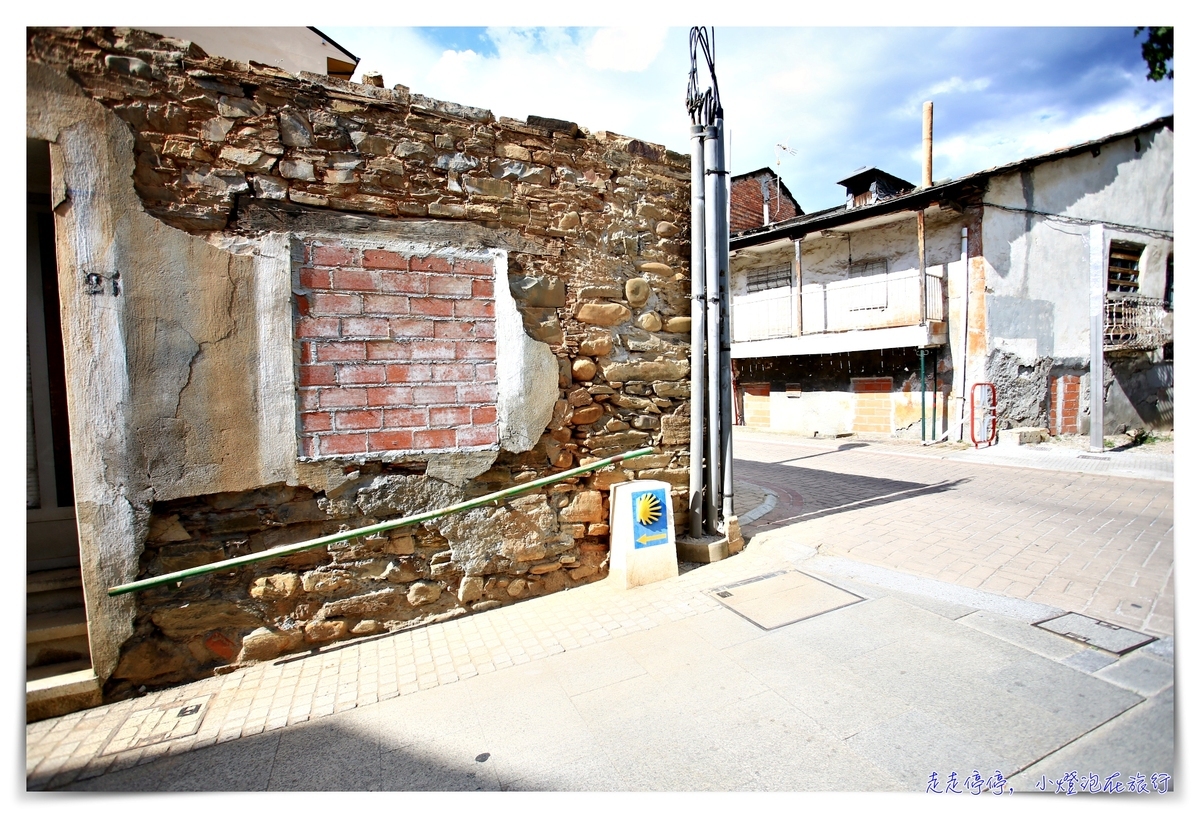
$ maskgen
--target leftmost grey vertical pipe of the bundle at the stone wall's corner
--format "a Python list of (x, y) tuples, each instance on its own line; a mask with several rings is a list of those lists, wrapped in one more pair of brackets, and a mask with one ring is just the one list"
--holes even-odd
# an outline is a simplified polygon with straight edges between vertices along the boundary
[(691, 441), (688, 527), (704, 534), (704, 126), (691, 126)]

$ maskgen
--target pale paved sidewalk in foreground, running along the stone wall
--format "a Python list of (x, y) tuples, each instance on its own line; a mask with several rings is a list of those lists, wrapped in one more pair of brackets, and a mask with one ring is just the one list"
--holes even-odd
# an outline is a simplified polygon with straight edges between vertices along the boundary
[[(863, 601), (763, 630), (706, 593), (796, 569)], [(779, 529), (654, 585), (596, 583), (31, 724), (28, 786), (924, 792), (978, 770), (1036, 792), (1081, 762), (1174, 775), (1170, 639), (1117, 660), (1031, 627), (1045, 606), (911, 582)], [(196, 735), (102, 754), (131, 715), (203, 697)]]

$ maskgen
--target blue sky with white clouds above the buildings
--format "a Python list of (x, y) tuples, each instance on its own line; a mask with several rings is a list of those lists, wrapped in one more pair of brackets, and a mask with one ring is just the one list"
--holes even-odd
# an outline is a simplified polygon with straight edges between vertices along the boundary
[[(686, 28), (319, 28), (389, 86), (688, 151)], [(731, 169), (770, 166), (808, 211), (838, 204), (836, 180), (862, 166), (919, 181), (925, 100), (935, 179), (1175, 110), (1128, 25), (718, 26), (715, 40)]]

